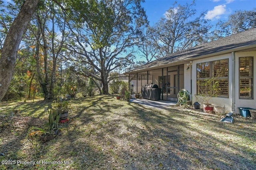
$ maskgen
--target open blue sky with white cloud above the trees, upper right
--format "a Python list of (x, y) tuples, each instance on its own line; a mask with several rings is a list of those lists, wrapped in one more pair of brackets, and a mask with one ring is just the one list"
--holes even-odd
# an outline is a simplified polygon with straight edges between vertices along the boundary
[[(150, 25), (156, 24), (164, 13), (174, 3), (174, 0), (145, 0), (142, 6), (146, 10)], [(192, 0), (177, 0), (177, 4), (184, 5), (191, 4)], [(256, 0), (196, 0), (194, 7), (198, 15), (206, 12), (206, 18), (210, 19), (213, 23), (218, 20), (226, 20), (230, 14), (236, 10), (252, 10), (256, 8)]]

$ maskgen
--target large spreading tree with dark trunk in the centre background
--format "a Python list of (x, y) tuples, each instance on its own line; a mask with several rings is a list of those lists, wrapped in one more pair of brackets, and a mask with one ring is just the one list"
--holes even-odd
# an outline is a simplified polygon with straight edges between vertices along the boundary
[(147, 17), (141, 0), (89, 0), (78, 5), (69, 22), (67, 47), (78, 73), (102, 82), (108, 93), (110, 72), (125, 67), (134, 58), (134, 46), (142, 37)]

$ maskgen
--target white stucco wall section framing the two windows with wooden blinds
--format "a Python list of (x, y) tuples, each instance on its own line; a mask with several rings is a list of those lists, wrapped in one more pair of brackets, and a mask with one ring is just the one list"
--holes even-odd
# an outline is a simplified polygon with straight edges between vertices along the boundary
[[(229, 61), (229, 74), (228, 74), (228, 83), (229, 83), (229, 89), (228, 89), (228, 97), (213, 97), (210, 100), (210, 103), (214, 104), (215, 106), (224, 106), (226, 107), (227, 112), (232, 111), (232, 102), (234, 102), (234, 109), (235, 113), (239, 114), (240, 111), (238, 107), (250, 107), (250, 108), (256, 108), (256, 51), (247, 51), (247, 52), (235, 52), (235, 62), (233, 65), (232, 62), (232, 53), (226, 53), (223, 55), (216, 55), (213, 57), (207, 57), (203, 59), (197, 59), (194, 60), (192, 63), (192, 96), (193, 100), (192, 102), (196, 102), (196, 98), (194, 97), (194, 94), (196, 94), (196, 64), (197, 63), (203, 63), (203, 62), (208, 62), (208, 61), (215, 61), (215, 60), (220, 60), (220, 59), (228, 59)], [(253, 69), (253, 99), (239, 99), (239, 57), (254, 57), (253, 58), (253, 64), (254, 64), (254, 69)], [(235, 67), (235, 72), (232, 73), (232, 67)], [(235, 74), (235, 80), (234, 80), (234, 89), (235, 89), (235, 96), (233, 97), (232, 101), (232, 74)], [(188, 71), (185, 70), (185, 88), (189, 89), (189, 73)], [(200, 101), (198, 101), (200, 103)], [(202, 105), (202, 103), (200, 103)]]

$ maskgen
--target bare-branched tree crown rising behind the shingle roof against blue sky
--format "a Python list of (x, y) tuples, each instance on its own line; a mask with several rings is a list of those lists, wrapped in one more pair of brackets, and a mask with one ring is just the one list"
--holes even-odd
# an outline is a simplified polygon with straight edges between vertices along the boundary
[(151, 45), (158, 49), (156, 58), (206, 42), (211, 27), (204, 20), (204, 13), (195, 18), (195, 5), (194, 1), (185, 5), (174, 2), (165, 17), (148, 28)]

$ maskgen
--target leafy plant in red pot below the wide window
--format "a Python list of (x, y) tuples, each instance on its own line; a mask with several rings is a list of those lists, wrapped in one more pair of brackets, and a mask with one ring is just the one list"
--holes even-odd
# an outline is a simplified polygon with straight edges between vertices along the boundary
[(219, 83), (214, 78), (205, 79), (197, 82), (198, 95), (196, 97), (203, 103), (203, 109), (206, 113), (214, 113), (214, 104), (210, 103), (210, 99), (216, 96), (220, 90)]

